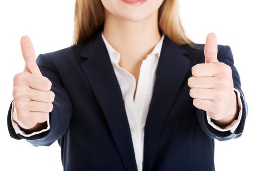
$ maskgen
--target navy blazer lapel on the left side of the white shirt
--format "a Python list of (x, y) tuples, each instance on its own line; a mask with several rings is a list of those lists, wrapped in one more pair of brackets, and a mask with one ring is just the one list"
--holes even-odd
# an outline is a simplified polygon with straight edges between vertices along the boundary
[(86, 58), (81, 68), (103, 110), (123, 164), (127, 171), (136, 171), (135, 154), (121, 88), (101, 32), (85, 44), (81, 58)]

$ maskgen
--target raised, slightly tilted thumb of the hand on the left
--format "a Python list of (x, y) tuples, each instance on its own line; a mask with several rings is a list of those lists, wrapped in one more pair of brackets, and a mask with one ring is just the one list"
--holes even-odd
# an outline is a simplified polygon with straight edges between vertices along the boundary
[(36, 57), (33, 44), (28, 36), (21, 37), (21, 52), (25, 61), (24, 71), (28, 71), (35, 75), (42, 75), (35, 60)]

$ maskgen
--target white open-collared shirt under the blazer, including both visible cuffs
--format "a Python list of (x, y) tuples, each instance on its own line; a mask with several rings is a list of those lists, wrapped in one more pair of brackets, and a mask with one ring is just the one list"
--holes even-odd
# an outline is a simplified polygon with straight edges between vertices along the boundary
[[(138, 171), (142, 171), (143, 149), (144, 149), (143, 147), (144, 127), (145, 127), (145, 122), (146, 122), (146, 118), (149, 110), (149, 103), (153, 93), (153, 86), (154, 86), (155, 76), (156, 76), (156, 68), (157, 68), (159, 57), (160, 57), (164, 35), (161, 37), (160, 41), (155, 45), (152, 52), (149, 55), (147, 55), (145, 60), (142, 61), (134, 100), (133, 100), (133, 95), (134, 95), (135, 86), (136, 86), (135, 77), (131, 73), (129, 73), (127, 70), (119, 66), (120, 53), (117, 52), (107, 42), (107, 39), (104, 37), (103, 33), (102, 33), (102, 38), (107, 47), (109, 58), (111, 60), (118, 83), (122, 90), (122, 95), (125, 102), (125, 109), (128, 117), (128, 123), (131, 131), (131, 137), (132, 137), (132, 143), (133, 143), (137, 168), (138, 168)], [(235, 88), (234, 90), (237, 92), (237, 97), (239, 97), (238, 106), (240, 110), (239, 110), (239, 116), (237, 120), (233, 121), (229, 126), (222, 129), (214, 125), (213, 122), (211, 122), (211, 118), (207, 115), (208, 123), (217, 130), (220, 130), (220, 131), (230, 130), (231, 132), (234, 132), (235, 128), (237, 128), (240, 122), (241, 115), (242, 115), (242, 103), (241, 103), (239, 91), (236, 90)], [(47, 128), (41, 131), (33, 132), (31, 134), (26, 134), (25, 132), (21, 131), (19, 125), (17, 124), (19, 123), (19, 121), (17, 120), (16, 110), (14, 106), (12, 107), (11, 118), (12, 118), (12, 124), (16, 133), (20, 133), (21, 135), (26, 137), (41, 133), (50, 128), (49, 119), (48, 119)]]

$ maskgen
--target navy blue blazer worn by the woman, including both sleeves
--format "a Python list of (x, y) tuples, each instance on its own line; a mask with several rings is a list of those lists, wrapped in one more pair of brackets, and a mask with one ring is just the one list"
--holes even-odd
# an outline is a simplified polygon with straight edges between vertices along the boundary
[[(214, 139), (241, 136), (248, 108), (230, 47), (218, 45), (217, 59), (231, 66), (242, 100), (233, 133), (214, 129), (206, 111), (192, 104), (188, 78), (193, 65), (204, 63), (203, 45), (198, 50), (164, 38), (145, 125), (143, 171), (214, 171)], [(16, 134), (11, 104), (10, 136), (34, 146), (58, 140), (64, 171), (137, 171), (122, 92), (101, 32), (86, 44), (41, 54), (36, 63), (55, 93), (51, 128), (31, 137)]]

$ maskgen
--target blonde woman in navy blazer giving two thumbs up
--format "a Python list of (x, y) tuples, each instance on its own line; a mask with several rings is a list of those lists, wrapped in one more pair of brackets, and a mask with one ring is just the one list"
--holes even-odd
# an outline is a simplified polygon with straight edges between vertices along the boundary
[(231, 49), (213, 33), (193, 43), (178, 0), (76, 0), (71, 47), (21, 49), (10, 136), (57, 140), (64, 171), (214, 171), (214, 139), (242, 134)]

